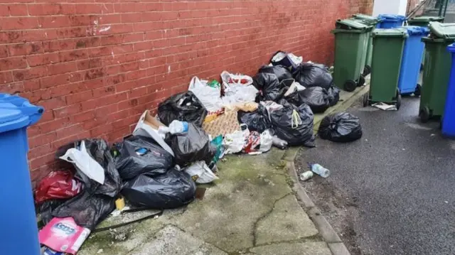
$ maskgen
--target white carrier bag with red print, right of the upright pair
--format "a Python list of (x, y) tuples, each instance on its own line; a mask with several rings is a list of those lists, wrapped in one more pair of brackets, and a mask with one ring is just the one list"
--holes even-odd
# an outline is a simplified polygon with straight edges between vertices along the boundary
[(225, 96), (223, 105), (231, 105), (243, 102), (255, 102), (258, 90), (252, 85), (253, 79), (248, 75), (232, 74), (227, 71), (221, 72), (221, 80)]

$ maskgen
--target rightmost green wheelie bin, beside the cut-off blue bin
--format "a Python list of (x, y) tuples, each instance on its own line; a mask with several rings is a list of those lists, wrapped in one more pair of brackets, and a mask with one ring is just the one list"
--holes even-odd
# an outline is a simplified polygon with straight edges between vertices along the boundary
[(420, 95), (419, 117), (427, 122), (444, 113), (450, 79), (451, 53), (447, 46), (455, 42), (455, 23), (429, 23), (430, 35), (425, 43), (425, 63)]

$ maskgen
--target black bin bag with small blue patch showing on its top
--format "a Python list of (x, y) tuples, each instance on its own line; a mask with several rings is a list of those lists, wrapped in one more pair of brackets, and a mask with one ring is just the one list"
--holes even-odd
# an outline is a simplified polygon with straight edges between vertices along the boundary
[(160, 175), (173, 166), (172, 155), (149, 137), (129, 136), (115, 147), (119, 151), (116, 166), (123, 180), (141, 173)]

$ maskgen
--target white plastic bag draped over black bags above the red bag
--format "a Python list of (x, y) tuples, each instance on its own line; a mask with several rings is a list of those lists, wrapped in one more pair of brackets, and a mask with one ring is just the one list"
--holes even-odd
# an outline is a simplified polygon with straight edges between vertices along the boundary
[(87, 175), (88, 178), (97, 183), (105, 184), (105, 169), (87, 153), (84, 140), (80, 142), (79, 150), (70, 148), (60, 159), (75, 164), (77, 169)]

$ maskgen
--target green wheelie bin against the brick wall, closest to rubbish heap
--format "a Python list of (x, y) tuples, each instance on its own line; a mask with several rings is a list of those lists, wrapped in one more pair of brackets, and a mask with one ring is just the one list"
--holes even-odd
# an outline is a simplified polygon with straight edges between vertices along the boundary
[(332, 33), (335, 35), (333, 82), (337, 87), (352, 92), (365, 84), (362, 72), (372, 28), (350, 19), (336, 21)]

